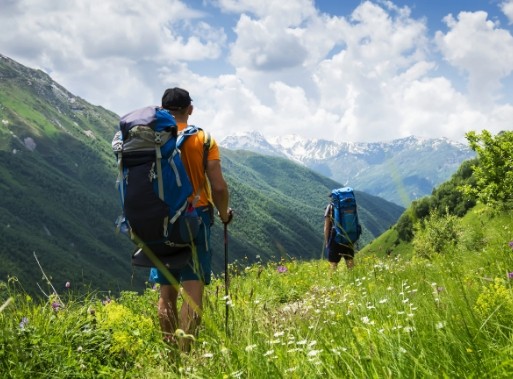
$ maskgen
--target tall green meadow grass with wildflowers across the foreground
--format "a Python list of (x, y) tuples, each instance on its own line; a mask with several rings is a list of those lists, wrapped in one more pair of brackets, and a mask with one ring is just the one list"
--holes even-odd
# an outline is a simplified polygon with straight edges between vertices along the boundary
[(189, 354), (162, 342), (156, 289), (111, 298), (79, 295), (71, 283), (36, 300), (11, 278), (0, 288), (0, 375), (511, 377), (513, 219), (476, 212), (461, 221), (459, 243), (429, 259), (388, 256), (384, 236), (352, 271), (325, 261), (248, 265), (231, 278), (228, 330), (216, 278)]

